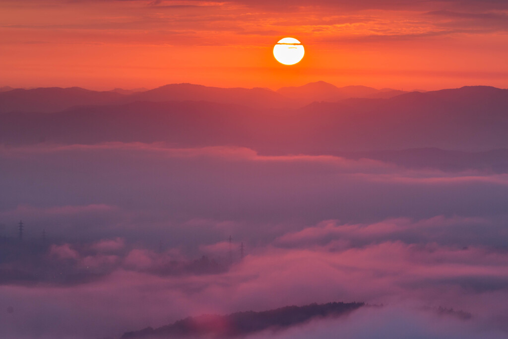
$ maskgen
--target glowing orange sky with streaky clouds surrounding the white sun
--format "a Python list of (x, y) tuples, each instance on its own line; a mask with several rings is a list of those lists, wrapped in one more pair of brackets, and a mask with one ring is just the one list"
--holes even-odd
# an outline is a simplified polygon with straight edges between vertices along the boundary
[(0, 86), (505, 88), (507, 60), (500, 0), (0, 0)]

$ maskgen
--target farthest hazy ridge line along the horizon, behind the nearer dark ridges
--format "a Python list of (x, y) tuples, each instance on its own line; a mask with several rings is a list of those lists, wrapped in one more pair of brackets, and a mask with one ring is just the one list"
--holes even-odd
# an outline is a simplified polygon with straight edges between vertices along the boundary
[(401, 94), (396, 90), (377, 90), (365, 86), (337, 88), (323, 81), (301, 87), (283, 87), (278, 91), (267, 88), (221, 88), (189, 83), (146, 88), (94, 91), (80, 87), (0, 90), (0, 113), (62, 111), (80, 105), (126, 104), (136, 101), (208, 101), (256, 108), (296, 108), (314, 101), (336, 102), (346, 98), (391, 98)]

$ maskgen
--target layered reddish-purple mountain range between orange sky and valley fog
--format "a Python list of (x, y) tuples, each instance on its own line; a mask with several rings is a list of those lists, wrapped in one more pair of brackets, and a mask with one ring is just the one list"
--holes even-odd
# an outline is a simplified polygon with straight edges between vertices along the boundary
[(129, 95), (13, 89), (0, 93), (0, 111), (5, 144), (161, 141), (270, 154), (508, 147), (508, 89), (488, 86), (403, 94), (324, 82), (278, 91), (173, 84)]

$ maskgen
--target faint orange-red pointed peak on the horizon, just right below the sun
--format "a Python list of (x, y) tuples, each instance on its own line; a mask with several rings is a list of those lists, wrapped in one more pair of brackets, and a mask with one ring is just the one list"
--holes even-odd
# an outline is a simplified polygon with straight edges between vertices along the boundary
[(324, 81), (317, 81), (298, 87), (282, 87), (277, 93), (303, 105), (321, 101), (337, 102), (348, 98), (392, 98), (406, 92), (391, 88), (378, 90), (367, 86), (337, 87)]

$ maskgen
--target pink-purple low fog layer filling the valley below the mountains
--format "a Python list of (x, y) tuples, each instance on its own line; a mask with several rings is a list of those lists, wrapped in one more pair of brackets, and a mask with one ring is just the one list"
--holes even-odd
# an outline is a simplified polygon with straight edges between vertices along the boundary
[(330, 301), (384, 307), (256, 337), (505, 336), (508, 176), (352, 158), (3, 146), (2, 336)]

